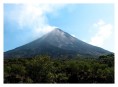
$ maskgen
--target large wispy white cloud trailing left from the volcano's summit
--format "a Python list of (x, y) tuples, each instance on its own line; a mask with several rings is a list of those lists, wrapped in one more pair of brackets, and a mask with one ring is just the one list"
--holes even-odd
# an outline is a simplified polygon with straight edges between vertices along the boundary
[(16, 4), (8, 11), (7, 19), (17, 23), (20, 29), (32, 31), (33, 35), (43, 35), (56, 27), (49, 25), (47, 14), (54, 15), (64, 6), (64, 4)]

